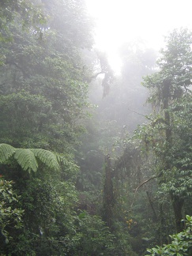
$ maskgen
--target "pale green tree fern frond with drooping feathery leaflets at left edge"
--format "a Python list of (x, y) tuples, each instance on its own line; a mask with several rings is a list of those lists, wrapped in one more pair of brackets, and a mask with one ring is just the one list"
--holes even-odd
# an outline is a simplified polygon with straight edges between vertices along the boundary
[(8, 144), (0, 144), (0, 164), (6, 164), (6, 160), (13, 156), (24, 171), (37, 171), (38, 161), (48, 168), (59, 170), (57, 156), (54, 152), (45, 149), (15, 149)]

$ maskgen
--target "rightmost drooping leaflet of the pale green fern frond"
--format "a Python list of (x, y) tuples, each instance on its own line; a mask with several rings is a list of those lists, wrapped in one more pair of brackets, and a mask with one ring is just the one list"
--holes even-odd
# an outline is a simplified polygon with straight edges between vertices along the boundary
[(59, 170), (59, 164), (57, 160), (57, 156), (54, 152), (45, 150), (45, 149), (31, 149), (35, 154), (36, 158), (38, 158), (43, 164), (47, 165), (48, 168), (54, 169), (55, 171)]

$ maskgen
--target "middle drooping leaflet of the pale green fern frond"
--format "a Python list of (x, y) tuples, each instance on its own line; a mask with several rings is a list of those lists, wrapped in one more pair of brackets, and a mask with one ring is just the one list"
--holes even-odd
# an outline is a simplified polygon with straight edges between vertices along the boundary
[(14, 158), (24, 171), (37, 171), (38, 164), (32, 149), (16, 149)]

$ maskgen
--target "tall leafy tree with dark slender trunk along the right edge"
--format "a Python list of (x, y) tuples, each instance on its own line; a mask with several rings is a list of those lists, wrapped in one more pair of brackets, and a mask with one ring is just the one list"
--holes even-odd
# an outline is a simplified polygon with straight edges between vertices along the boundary
[[(165, 186), (170, 194), (177, 232), (182, 229), (182, 209), (188, 185), (184, 190), (179, 189), (181, 184), (175, 181), (184, 179), (186, 182), (191, 171), (189, 164), (185, 167), (182, 164), (185, 163), (186, 152), (188, 156), (191, 154), (190, 146), (185, 136), (178, 141), (179, 130), (185, 130), (189, 134), (190, 129), (185, 123), (187, 119), (191, 119), (191, 43), (190, 31), (181, 29), (171, 32), (167, 38), (167, 46), (161, 51), (161, 58), (157, 62), (160, 70), (145, 77), (144, 81), (145, 87), (151, 91), (149, 102), (156, 108), (154, 118), (144, 133), (145, 143), (152, 146), (152, 151), (159, 160), (160, 186)], [(191, 140), (191, 136), (188, 140)], [(184, 143), (186, 145), (183, 152)]]

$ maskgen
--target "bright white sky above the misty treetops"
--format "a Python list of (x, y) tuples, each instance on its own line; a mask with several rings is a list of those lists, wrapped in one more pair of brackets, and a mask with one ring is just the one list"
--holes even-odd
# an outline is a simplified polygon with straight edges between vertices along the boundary
[[(192, 28), (191, 0), (86, 0), (96, 17), (96, 47), (106, 51), (118, 69), (118, 47), (135, 38), (160, 50), (174, 28)], [(116, 65), (116, 67), (115, 67)]]

